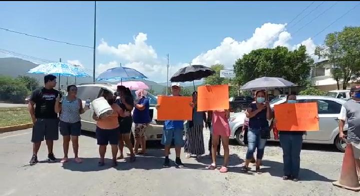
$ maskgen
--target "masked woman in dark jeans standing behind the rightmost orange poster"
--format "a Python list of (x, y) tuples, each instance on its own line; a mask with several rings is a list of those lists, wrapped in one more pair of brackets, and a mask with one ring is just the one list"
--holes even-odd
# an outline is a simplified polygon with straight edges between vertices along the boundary
[[(286, 102), (290, 104), (296, 103), (296, 95), (287, 95)], [(298, 181), (303, 134), (304, 131), (279, 130), (279, 140), (283, 153), (283, 180), (292, 179), (295, 182)]]

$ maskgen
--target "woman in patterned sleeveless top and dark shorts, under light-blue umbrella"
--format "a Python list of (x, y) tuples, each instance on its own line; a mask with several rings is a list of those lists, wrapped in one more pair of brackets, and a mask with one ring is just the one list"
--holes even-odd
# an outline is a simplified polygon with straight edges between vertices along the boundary
[(72, 150), (75, 155), (74, 161), (76, 163), (81, 163), (81, 159), (77, 157), (78, 152), (78, 137), (81, 135), (81, 122), (80, 114), (83, 114), (85, 111), (82, 108), (81, 99), (76, 98), (77, 87), (75, 85), (67, 86), (67, 96), (63, 97), (61, 103), (60, 98), (56, 98), (55, 102), (55, 112), (60, 113), (59, 115), (59, 130), (63, 137), (62, 148), (64, 152), (64, 157), (61, 160), (61, 163), (67, 163), (68, 157), (68, 148), (71, 140)]

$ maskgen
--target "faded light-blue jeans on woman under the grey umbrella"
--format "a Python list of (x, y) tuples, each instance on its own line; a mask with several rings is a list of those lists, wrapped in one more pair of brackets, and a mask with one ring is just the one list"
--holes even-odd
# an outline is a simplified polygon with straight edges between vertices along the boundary
[(266, 139), (261, 139), (261, 129), (253, 129), (249, 128), (247, 131), (247, 152), (246, 152), (246, 159), (250, 160), (253, 158), (253, 153), (255, 149), (257, 149), (256, 159), (262, 159)]

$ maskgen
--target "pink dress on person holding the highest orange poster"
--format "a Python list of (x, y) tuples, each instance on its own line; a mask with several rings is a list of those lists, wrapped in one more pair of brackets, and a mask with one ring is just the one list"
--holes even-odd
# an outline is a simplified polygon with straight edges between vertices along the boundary
[(212, 112), (212, 134), (216, 136), (230, 136), (230, 127), (224, 110), (215, 110)]

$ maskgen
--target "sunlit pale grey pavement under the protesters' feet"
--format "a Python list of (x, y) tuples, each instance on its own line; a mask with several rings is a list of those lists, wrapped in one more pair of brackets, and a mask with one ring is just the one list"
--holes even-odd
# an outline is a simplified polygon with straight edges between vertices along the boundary
[[(331, 185), (339, 177), (343, 156), (332, 146), (305, 145), (301, 152), (302, 181), (295, 183), (281, 179), (282, 153), (277, 144), (265, 149), (262, 175), (245, 175), (239, 169), (246, 148), (236, 145), (230, 148), (227, 174), (208, 171), (208, 158), (182, 159), (187, 168), (163, 169), (159, 145), (151, 145), (148, 154), (137, 157), (135, 163), (125, 159), (110, 168), (108, 159), (105, 167), (97, 167), (93, 134), (80, 137), (82, 164), (72, 160), (65, 165), (46, 163), (46, 147), (41, 146), (41, 163), (30, 167), (30, 136), (29, 129), (0, 134), (0, 196), (358, 196)], [(61, 140), (55, 143), (54, 153), (62, 156)], [(171, 149), (172, 160), (174, 154)], [(109, 148), (106, 157), (110, 158)]]

